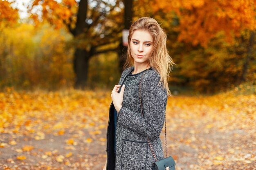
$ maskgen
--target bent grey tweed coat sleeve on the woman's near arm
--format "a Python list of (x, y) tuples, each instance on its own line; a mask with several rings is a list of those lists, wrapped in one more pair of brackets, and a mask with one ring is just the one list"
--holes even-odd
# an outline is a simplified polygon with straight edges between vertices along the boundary
[(158, 86), (160, 76), (145, 75), (141, 82), (141, 102), (144, 117), (122, 106), (117, 115), (119, 124), (130, 128), (151, 140), (160, 136), (164, 126), (167, 104), (167, 91), (162, 84)]

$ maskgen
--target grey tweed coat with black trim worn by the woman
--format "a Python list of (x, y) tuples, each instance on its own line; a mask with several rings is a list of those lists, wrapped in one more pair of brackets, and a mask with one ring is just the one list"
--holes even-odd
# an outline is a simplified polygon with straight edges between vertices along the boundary
[[(125, 84), (124, 100), (116, 117), (115, 106), (110, 104), (107, 128), (107, 170), (152, 170), (155, 162), (147, 138), (153, 147), (157, 160), (164, 158), (159, 135), (164, 126), (167, 91), (157, 86), (160, 75), (150, 67), (141, 80), (141, 102), (139, 101), (139, 81), (146, 71), (132, 75), (134, 66), (121, 74), (119, 84)], [(119, 88), (120, 93), (121, 88)], [(116, 135), (116, 139), (115, 139)], [(116, 142), (116, 146), (115, 145)], [(114, 148), (116, 147), (116, 148)]]

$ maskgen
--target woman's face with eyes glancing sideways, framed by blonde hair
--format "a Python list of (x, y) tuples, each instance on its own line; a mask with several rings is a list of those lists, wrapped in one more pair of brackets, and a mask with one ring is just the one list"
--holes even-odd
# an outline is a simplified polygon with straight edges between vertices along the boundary
[(137, 30), (130, 41), (130, 53), (134, 59), (134, 65), (148, 64), (153, 49), (153, 37), (148, 31)]

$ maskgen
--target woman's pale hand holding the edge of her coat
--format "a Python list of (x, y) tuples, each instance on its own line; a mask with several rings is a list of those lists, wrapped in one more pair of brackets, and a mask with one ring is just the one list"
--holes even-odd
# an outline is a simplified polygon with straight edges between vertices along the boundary
[(123, 99), (124, 99), (124, 85), (122, 86), (120, 93), (118, 93), (120, 86), (121, 85), (119, 85), (119, 84), (115, 85), (115, 87), (113, 88), (113, 90), (111, 92), (112, 102), (113, 102), (117, 112), (119, 112), (119, 110), (121, 109)]

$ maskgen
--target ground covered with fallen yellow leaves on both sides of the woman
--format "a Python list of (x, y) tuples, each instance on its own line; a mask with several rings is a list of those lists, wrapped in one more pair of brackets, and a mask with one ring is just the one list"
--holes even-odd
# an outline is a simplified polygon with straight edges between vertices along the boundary
[[(168, 156), (176, 170), (256, 170), (256, 95), (172, 96)], [(1, 170), (100, 170), (111, 92), (0, 93)], [(164, 129), (161, 134), (164, 146)]]

